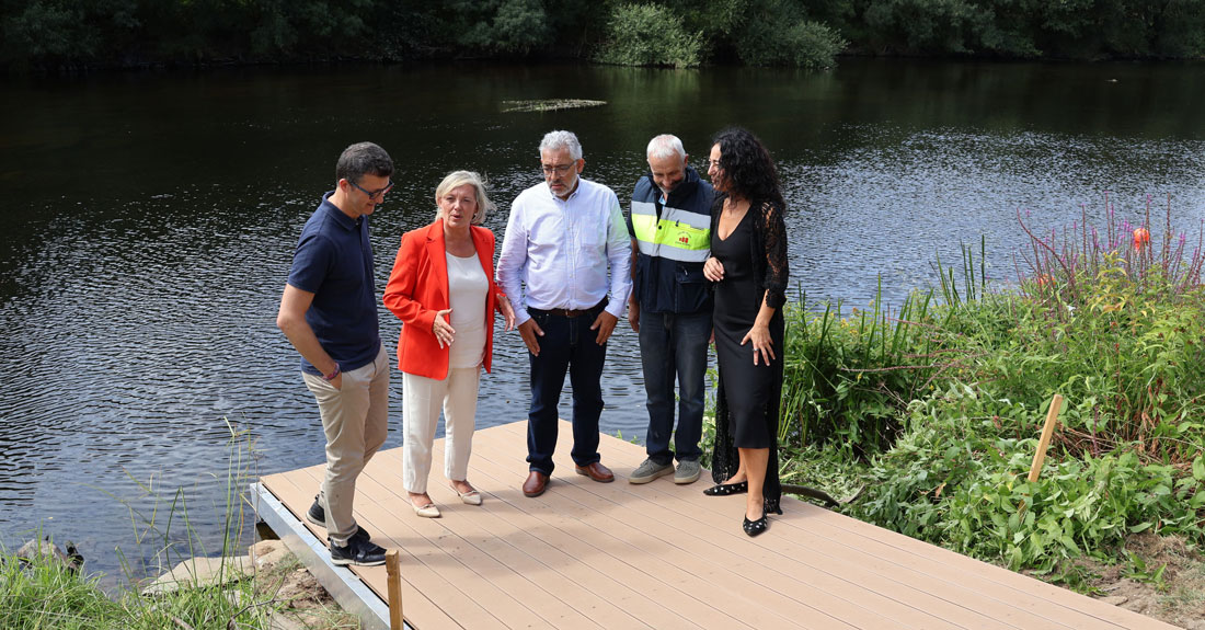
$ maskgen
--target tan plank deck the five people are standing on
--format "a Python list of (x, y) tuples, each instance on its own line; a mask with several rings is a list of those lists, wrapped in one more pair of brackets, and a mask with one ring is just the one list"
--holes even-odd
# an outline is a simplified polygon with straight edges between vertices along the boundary
[[(360, 476), (357, 519), (378, 544), (402, 552), (410, 626), (1174, 628), (789, 497), (770, 530), (750, 538), (740, 526), (745, 497), (704, 496), (706, 472), (690, 485), (671, 477), (627, 483), (643, 447), (604, 435), (599, 449), (615, 483), (575, 475), (568, 423), (548, 490), (528, 499), (519, 489), (525, 430), (519, 422), (477, 431), (469, 481), (484, 495), (481, 507), (460, 504), (447, 487), (436, 442), (428, 490), (439, 519), (410, 508), (400, 448), (377, 454)], [(317, 465), (260, 483), (302, 517), (322, 473)], [(294, 550), (319, 557), (307, 563), (329, 560), (325, 532), (305, 526), (318, 537)], [(371, 589), (363, 594), (386, 596), (383, 566), (330, 572), (354, 572)]]

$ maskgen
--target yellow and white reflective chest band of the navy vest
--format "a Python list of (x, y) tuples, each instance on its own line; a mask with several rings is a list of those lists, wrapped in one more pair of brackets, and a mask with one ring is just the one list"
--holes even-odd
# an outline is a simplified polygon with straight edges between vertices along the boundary
[(663, 206), (657, 218), (656, 204), (633, 200), (631, 228), (641, 254), (682, 263), (704, 263), (711, 254), (707, 214)]

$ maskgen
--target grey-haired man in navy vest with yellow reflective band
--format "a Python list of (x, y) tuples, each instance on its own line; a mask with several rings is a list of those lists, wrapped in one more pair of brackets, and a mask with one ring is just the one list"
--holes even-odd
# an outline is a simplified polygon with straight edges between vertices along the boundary
[[(640, 336), (648, 407), (648, 458), (628, 478), (674, 483), (699, 478), (704, 373), (711, 336), (711, 293), (703, 264), (711, 254), (711, 184), (687, 165), (682, 141), (660, 135), (648, 143), (649, 172), (631, 193), (634, 289), (628, 323)], [(674, 431), (674, 382), (678, 423)], [(670, 435), (674, 449), (670, 451)], [(674, 467), (675, 458), (678, 461)]]

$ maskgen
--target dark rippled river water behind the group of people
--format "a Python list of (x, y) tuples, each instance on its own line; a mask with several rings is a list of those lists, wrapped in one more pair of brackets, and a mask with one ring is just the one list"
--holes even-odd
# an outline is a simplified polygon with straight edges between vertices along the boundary
[[(957, 260), (981, 235), (989, 273), (1012, 276), (1018, 210), (1046, 230), (1081, 205), (1099, 222), (1106, 190), (1131, 220), (1146, 195), (1162, 207), (1170, 194), (1195, 235), (1203, 75), (1199, 64), (846, 60), (821, 75), (442, 65), (0, 83), (0, 540), (41, 528), (74, 538), (92, 569), (120, 572), (120, 547), (139, 571), (164, 540), (137, 534), (152, 518), (166, 526), (182, 488), (214, 553), (227, 420), (254, 440), (236, 467), (322, 461), (317, 410), (275, 316), (296, 236), (351, 142), (372, 140), (398, 165), (372, 218), (378, 292), (449, 170), (488, 175), (500, 212), (487, 225), (501, 237), (510, 201), (540, 181), (545, 131), (575, 130), (586, 176), (627, 204), (649, 137), (677, 134), (700, 164), (710, 136), (737, 123), (778, 160), (793, 282), (810, 300), (864, 306), (881, 276), (898, 304), (933, 282), (935, 253)], [(545, 98), (609, 105), (501, 111)], [(383, 310), (381, 324), (392, 355), (399, 325)], [(617, 331), (602, 428), (642, 437), (635, 335)], [(499, 341), (478, 426), (525, 417), (522, 343)], [(395, 372), (387, 447), (400, 441), (400, 383)]]

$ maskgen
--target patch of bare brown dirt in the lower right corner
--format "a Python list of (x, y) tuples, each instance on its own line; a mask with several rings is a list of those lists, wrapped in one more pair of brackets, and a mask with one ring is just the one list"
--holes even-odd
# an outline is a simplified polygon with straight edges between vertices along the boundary
[[(1136, 534), (1125, 542), (1128, 554), (1107, 565), (1077, 559), (1072, 570), (1092, 597), (1153, 617), (1187, 630), (1205, 630), (1205, 558), (1176, 536)], [(1162, 567), (1162, 573), (1159, 573)]]

